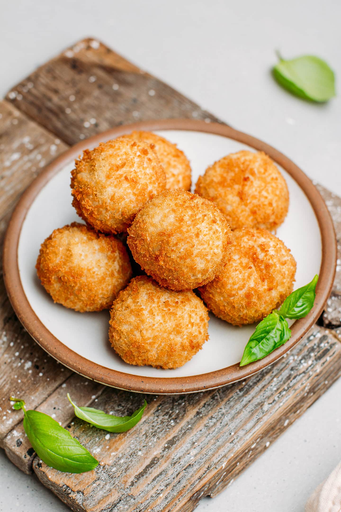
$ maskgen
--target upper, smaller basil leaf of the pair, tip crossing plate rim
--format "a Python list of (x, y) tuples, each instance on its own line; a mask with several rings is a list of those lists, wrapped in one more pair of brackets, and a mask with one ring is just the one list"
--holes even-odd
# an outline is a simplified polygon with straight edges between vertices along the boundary
[(316, 274), (310, 283), (293, 291), (285, 299), (279, 313), (284, 318), (303, 318), (314, 305), (315, 289), (319, 276)]

